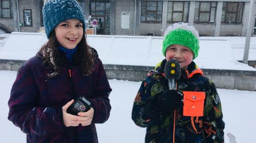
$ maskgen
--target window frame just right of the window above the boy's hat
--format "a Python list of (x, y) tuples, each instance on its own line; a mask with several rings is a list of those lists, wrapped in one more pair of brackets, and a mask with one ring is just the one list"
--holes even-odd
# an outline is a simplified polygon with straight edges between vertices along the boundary
[[(194, 23), (216, 23), (216, 12), (217, 12), (217, 2), (196, 2), (199, 3), (199, 10), (198, 10), (198, 21), (195, 21), (195, 16), (194, 16)], [(200, 11), (201, 10), (201, 3), (210, 3), (210, 9), (209, 11)], [(212, 6), (212, 3), (215, 3), (215, 6)], [(211, 17), (211, 9), (215, 8), (215, 14), (214, 14), (214, 22), (210, 21)], [(201, 13), (209, 13), (209, 20), (208, 21), (200, 21), (200, 14)]]

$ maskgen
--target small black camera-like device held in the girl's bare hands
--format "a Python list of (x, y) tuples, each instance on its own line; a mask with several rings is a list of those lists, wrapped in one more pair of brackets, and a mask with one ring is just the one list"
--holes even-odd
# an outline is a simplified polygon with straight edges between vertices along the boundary
[(91, 102), (89, 102), (85, 97), (81, 96), (69, 106), (67, 113), (77, 116), (77, 113), (87, 112), (90, 108)]

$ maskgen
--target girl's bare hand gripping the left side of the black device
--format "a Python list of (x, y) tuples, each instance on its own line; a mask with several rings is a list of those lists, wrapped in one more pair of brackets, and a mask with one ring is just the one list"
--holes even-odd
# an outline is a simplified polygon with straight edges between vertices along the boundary
[(68, 107), (74, 102), (72, 99), (69, 101), (66, 105), (62, 106), (62, 115), (63, 115), (63, 123), (66, 127), (69, 126), (78, 126), (79, 123), (77, 122), (77, 116), (71, 115), (70, 113), (67, 113)]

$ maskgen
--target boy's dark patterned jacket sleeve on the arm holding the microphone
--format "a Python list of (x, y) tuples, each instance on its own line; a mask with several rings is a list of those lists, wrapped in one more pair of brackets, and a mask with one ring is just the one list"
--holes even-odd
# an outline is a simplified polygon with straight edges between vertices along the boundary
[(156, 104), (157, 97), (162, 94), (164, 88), (160, 80), (155, 83), (152, 78), (148, 76), (142, 81), (134, 99), (132, 120), (139, 127), (161, 124), (167, 116)]

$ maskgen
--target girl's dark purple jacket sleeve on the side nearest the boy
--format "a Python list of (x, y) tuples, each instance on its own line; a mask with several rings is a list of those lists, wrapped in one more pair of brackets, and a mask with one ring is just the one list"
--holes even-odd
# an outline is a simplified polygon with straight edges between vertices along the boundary
[(109, 95), (112, 89), (100, 59), (98, 59), (98, 77), (96, 80), (94, 98), (89, 99), (94, 109), (92, 123), (104, 123), (110, 117), (111, 105)]

